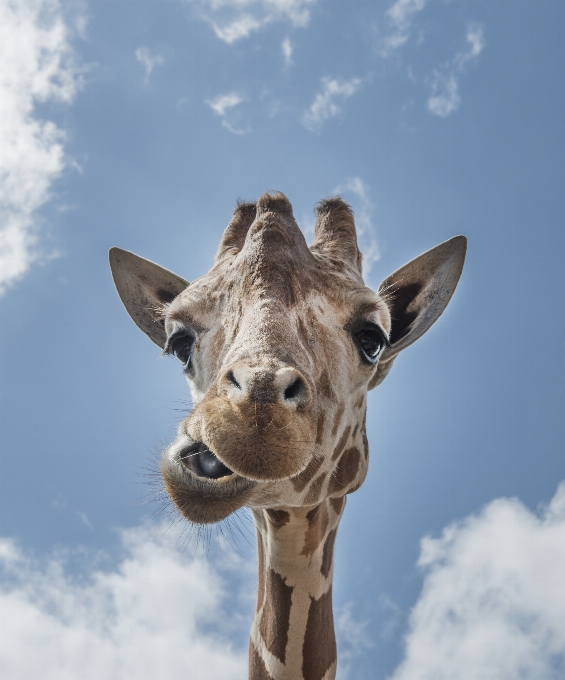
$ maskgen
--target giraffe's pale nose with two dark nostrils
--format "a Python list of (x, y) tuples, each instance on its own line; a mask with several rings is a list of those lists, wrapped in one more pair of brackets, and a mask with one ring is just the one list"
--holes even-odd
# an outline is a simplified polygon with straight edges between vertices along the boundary
[(238, 362), (225, 372), (222, 382), (228, 398), (235, 402), (282, 404), (297, 408), (310, 401), (306, 379), (290, 366), (268, 370)]

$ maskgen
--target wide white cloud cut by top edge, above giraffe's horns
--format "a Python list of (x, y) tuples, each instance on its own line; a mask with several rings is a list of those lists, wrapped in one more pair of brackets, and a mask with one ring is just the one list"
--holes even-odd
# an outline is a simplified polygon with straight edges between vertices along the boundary
[(316, 0), (185, 0), (208, 21), (217, 37), (231, 45), (275, 22), (304, 27)]

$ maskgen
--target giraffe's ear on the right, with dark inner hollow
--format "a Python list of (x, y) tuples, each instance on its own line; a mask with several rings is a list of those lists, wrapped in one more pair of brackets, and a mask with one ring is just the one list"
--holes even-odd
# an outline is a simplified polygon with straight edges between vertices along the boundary
[(390, 348), (369, 389), (381, 383), (396, 356), (437, 321), (453, 295), (465, 262), (467, 239), (454, 236), (388, 276), (379, 286), (392, 317)]

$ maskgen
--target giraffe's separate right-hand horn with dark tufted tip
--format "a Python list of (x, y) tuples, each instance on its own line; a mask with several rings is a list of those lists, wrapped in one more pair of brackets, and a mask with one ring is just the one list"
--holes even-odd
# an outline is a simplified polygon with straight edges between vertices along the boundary
[(345, 265), (354, 274), (361, 274), (363, 258), (357, 246), (353, 211), (341, 198), (327, 198), (318, 203), (310, 250), (324, 255), (338, 269)]

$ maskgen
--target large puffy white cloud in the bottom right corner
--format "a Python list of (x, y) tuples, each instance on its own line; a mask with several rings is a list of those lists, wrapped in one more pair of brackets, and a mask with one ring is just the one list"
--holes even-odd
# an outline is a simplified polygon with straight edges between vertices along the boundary
[(539, 514), (498, 499), (421, 548), (424, 587), (390, 680), (564, 677), (565, 482)]

